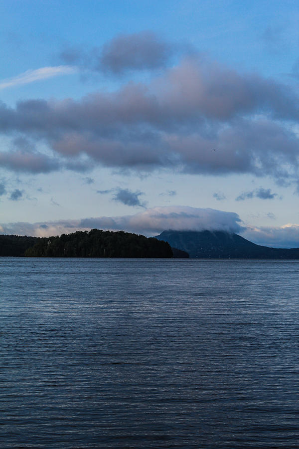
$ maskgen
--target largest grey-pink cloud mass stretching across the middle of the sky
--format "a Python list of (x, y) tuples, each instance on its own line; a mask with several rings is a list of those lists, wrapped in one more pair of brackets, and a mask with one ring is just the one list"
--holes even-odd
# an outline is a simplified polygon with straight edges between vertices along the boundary
[[(45, 143), (56, 169), (251, 174), (281, 184), (298, 179), (298, 121), (298, 96), (288, 86), (195, 55), (148, 83), (81, 100), (0, 104), (0, 132)], [(1, 158), (11, 170), (31, 170), (21, 158)], [(42, 162), (33, 172), (53, 169), (53, 160)]]

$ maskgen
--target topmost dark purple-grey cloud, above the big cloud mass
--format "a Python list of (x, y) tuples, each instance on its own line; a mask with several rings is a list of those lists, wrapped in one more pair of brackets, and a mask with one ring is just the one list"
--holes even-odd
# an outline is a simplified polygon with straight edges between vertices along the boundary
[[(178, 47), (177, 47), (178, 49)], [(165, 67), (175, 51), (175, 45), (152, 31), (119, 34), (102, 48), (85, 50), (65, 48), (60, 59), (67, 64), (105, 74), (122, 75), (127, 71), (154, 70)]]

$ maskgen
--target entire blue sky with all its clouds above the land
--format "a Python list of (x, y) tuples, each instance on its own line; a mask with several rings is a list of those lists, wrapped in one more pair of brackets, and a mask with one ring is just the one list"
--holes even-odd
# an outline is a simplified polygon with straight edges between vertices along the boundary
[(0, 0), (0, 233), (299, 247), (299, 0)]

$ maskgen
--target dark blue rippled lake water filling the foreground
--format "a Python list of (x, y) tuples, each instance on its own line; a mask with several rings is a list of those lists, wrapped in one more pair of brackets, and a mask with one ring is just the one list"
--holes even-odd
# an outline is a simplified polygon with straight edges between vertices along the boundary
[(0, 448), (298, 448), (299, 261), (0, 258)]

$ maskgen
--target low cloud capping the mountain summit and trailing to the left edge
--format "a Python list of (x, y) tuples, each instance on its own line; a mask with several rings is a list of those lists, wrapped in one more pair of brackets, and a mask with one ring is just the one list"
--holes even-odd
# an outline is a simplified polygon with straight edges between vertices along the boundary
[[(41, 225), (43, 226), (41, 227)], [(156, 235), (165, 229), (210, 229), (226, 230), (228, 232), (240, 232), (243, 229), (241, 219), (236, 213), (187, 206), (156, 207), (135, 215), (121, 217), (94, 217), (35, 224), (2, 224), (3, 233), (37, 236), (57, 235), (95, 227), (99, 229), (125, 230), (145, 235)]]

